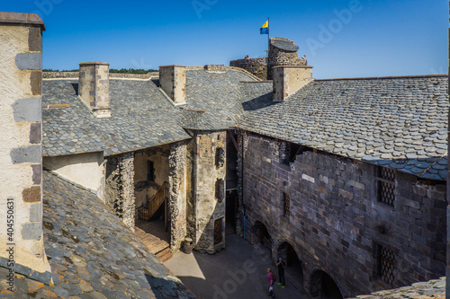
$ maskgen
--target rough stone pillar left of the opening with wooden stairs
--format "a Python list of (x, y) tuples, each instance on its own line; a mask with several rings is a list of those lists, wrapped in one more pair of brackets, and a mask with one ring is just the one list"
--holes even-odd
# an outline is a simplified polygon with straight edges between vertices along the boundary
[(105, 204), (134, 232), (136, 198), (134, 196), (134, 153), (107, 157)]

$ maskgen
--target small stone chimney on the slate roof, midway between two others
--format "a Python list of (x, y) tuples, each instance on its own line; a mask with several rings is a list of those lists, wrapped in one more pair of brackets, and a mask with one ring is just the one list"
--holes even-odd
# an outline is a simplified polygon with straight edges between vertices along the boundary
[(159, 66), (159, 84), (175, 104), (186, 103), (186, 66)]

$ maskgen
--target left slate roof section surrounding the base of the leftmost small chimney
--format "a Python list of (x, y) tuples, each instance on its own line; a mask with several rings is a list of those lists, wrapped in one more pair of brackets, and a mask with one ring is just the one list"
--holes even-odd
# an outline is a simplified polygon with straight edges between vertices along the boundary
[[(135, 151), (189, 138), (179, 126), (180, 111), (151, 80), (110, 80), (112, 117), (97, 119), (77, 99), (77, 80), (42, 84), (43, 154), (55, 156)], [(46, 109), (48, 105), (68, 107)]]

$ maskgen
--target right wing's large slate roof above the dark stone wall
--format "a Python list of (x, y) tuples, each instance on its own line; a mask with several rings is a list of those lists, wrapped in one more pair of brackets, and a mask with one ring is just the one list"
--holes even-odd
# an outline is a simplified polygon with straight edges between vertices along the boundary
[(240, 128), (446, 180), (446, 75), (315, 80), (278, 103), (267, 84), (247, 85)]

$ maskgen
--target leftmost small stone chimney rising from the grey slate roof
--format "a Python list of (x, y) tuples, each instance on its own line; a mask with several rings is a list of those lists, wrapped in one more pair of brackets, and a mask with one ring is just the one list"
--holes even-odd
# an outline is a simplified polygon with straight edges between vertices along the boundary
[(110, 64), (82, 62), (78, 80), (78, 95), (97, 118), (111, 117)]

